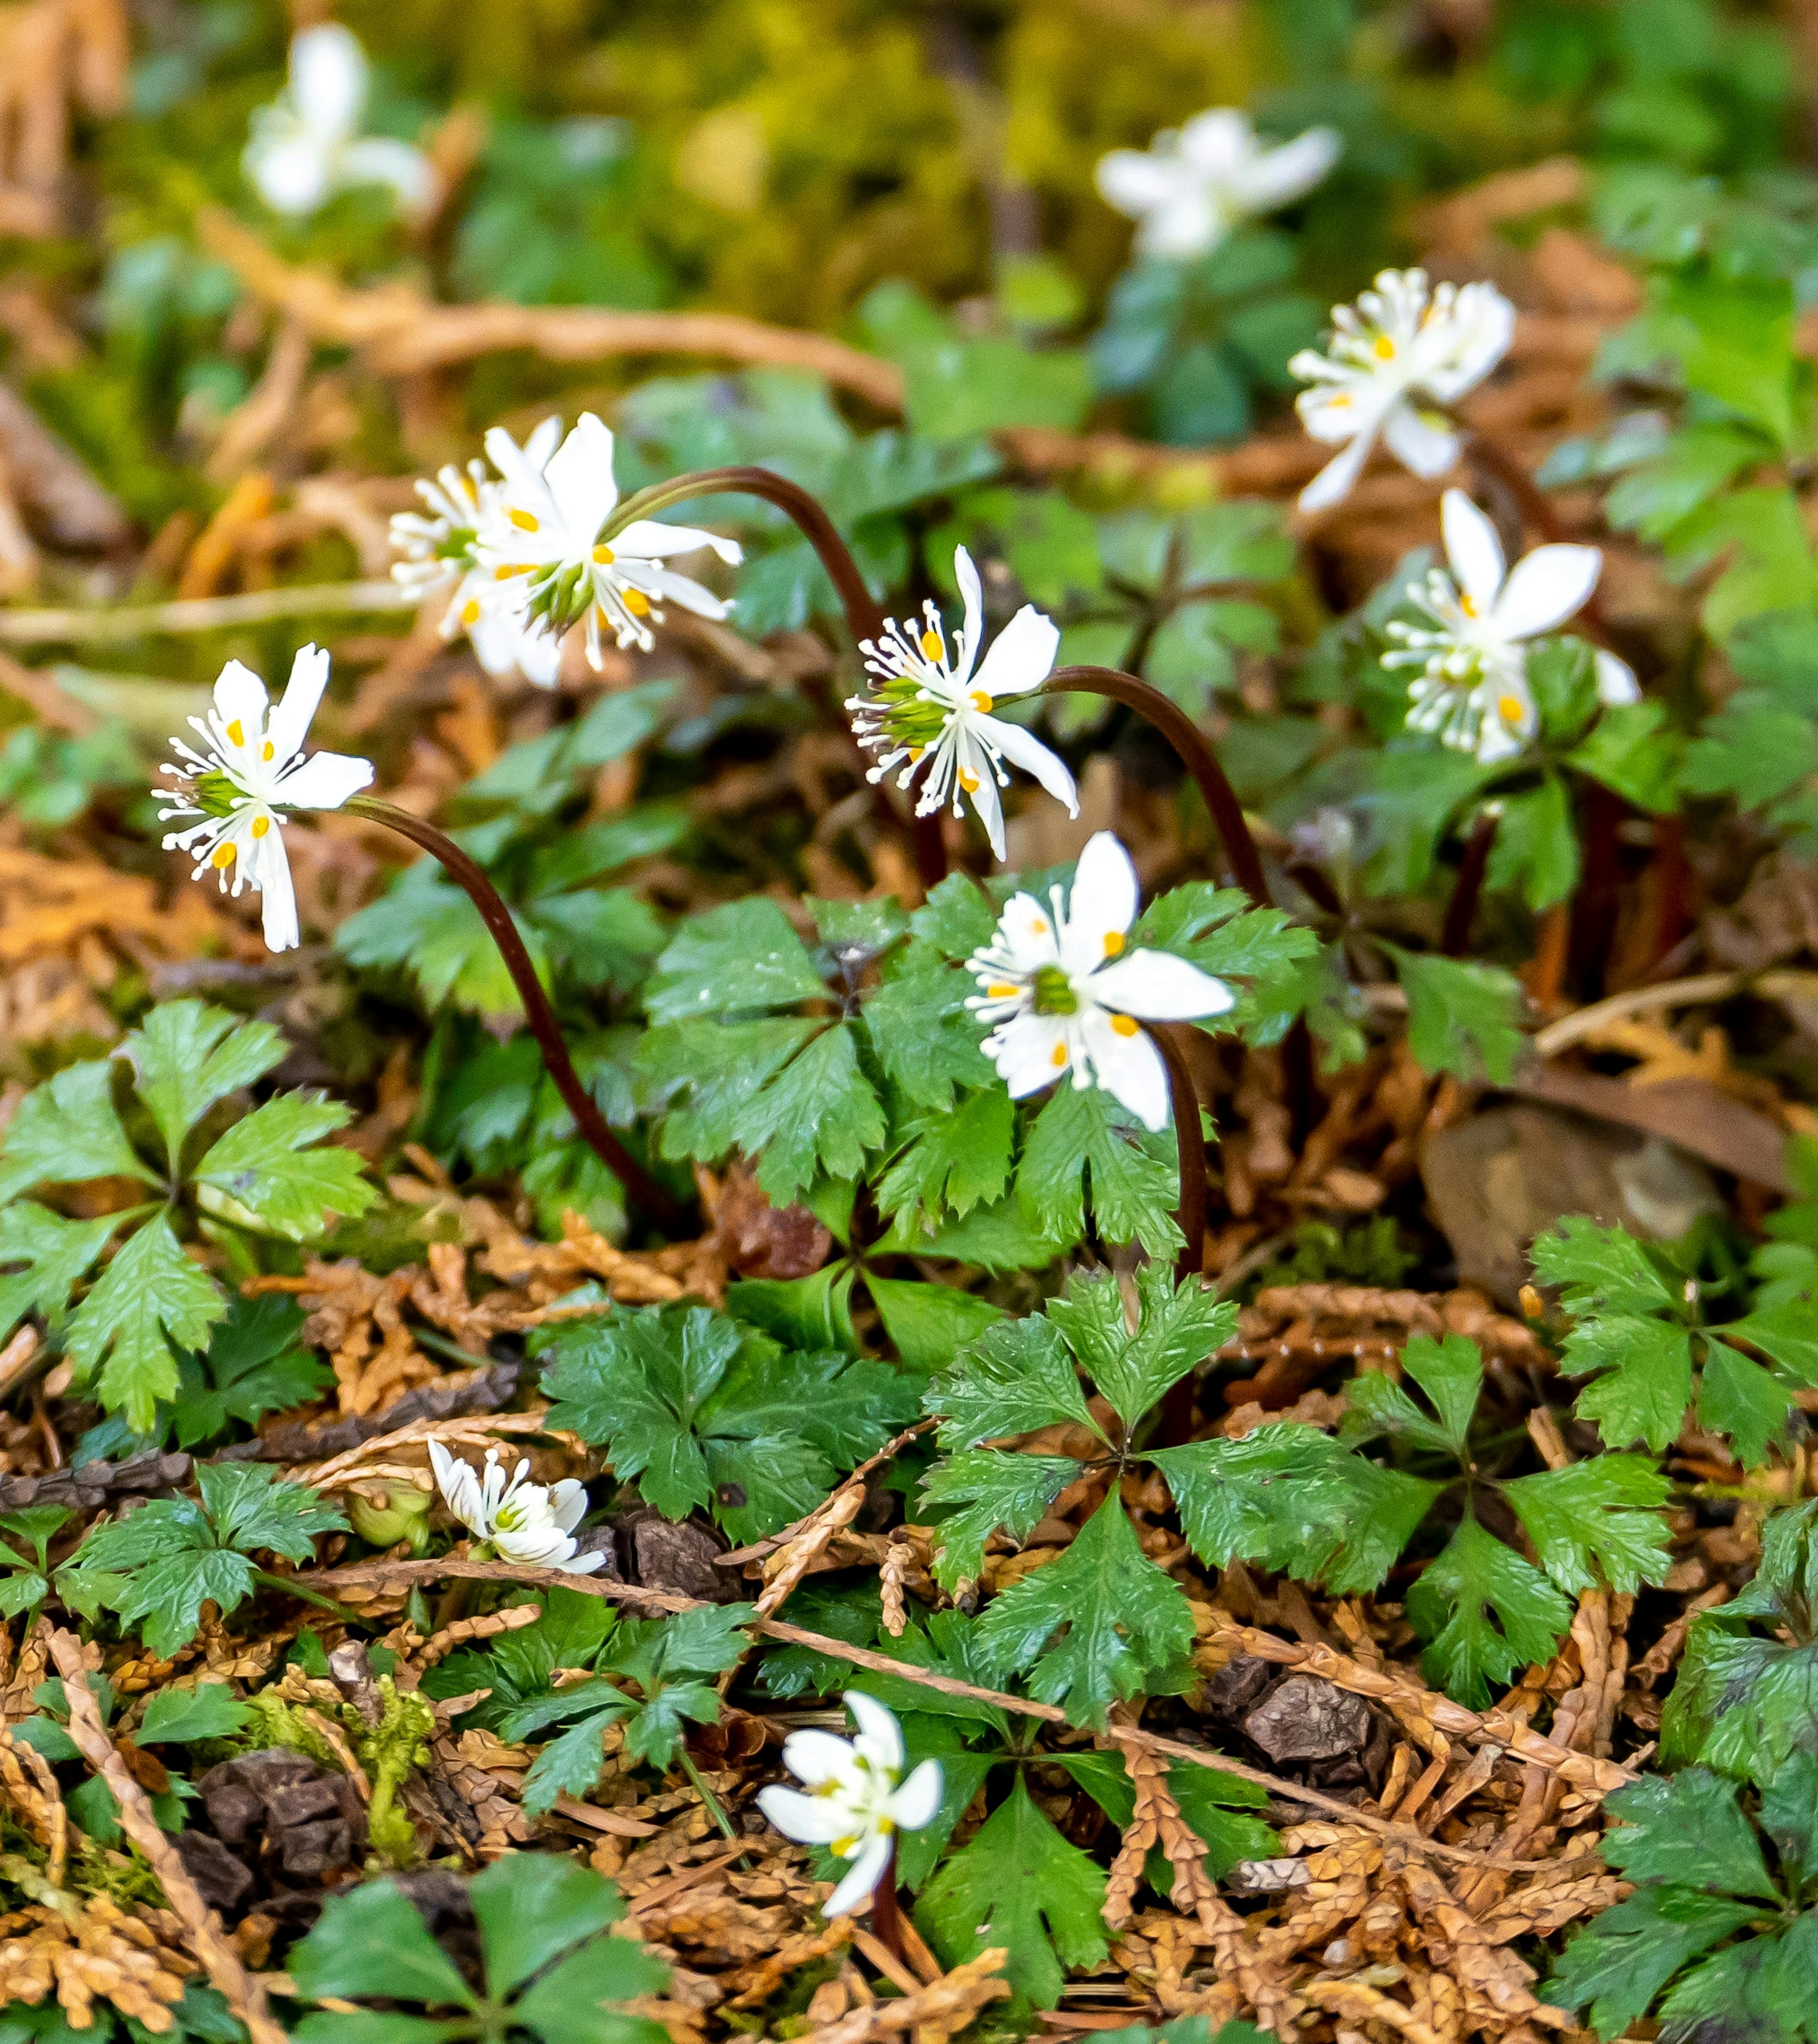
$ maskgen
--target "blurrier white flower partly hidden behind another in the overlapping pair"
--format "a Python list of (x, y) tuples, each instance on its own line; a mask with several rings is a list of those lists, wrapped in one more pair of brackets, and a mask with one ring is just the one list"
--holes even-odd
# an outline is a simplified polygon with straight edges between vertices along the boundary
[[(501, 437), (509, 435), (499, 429)], [(521, 460), (542, 468), (562, 437), (560, 419), (544, 419), (521, 448)], [(483, 462), (466, 470), (438, 470), (434, 480), (419, 480), (421, 511), (399, 511), (391, 521), (391, 544), (405, 556), (393, 564), (393, 580), (423, 603), (438, 591), (448, 591), (448, 611), (442, 636), (466, 632), (481, 666), (489, 675), (524, 675), (540, 689), (552, 689), (562, 666), (562, 642), (544, 632), (528, 613), (528, 585), (501, 583), (476, 556), (481, 531), (493, 519), (499, 484)]]

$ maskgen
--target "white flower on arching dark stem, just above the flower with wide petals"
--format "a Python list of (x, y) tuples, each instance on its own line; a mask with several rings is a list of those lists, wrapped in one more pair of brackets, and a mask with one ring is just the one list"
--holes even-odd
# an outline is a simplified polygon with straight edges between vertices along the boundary
[(1067, 816), (1080, 814), (1065, 760), (1020, 724), (992, 715), (994, 703), (1029, 695), (1047, 681), (1061, 634), (1051, 617), (1025, 603), (980, 660), (984, 591), (963, 546), (953, 552), (953, 576), (965, 599), (965, 623), (953, 634), (951, 652), (933, 601), (924, 605), (920, 632), (912, 621), (888, 619), (881, 644), (859, 644), (877, 683), (871, 695), (849, 695), (847, 709), (853, 711), (859, 744), (883, 754), (871, 769), (871, 781), (881, 781), (898, 762), (906, 762), (898, 787), (908, 787), (920, 773), (916, 816), (935, 816), (949, 793), (953, 814), (961, 816), (959, 795), (967, 793), (992, 852), (1002, 858), (1004, 805), (998, 789), (1010, 785), (1004, 760), (1035, 775), (1049, 795), (1067, 805)]

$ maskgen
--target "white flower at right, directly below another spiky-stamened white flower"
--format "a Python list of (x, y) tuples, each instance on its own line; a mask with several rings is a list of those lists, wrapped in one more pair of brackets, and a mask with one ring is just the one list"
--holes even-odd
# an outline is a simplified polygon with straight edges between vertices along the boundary
[[(1464, 491), (1446, 491), (1440, 527), (1452, 572), (1434, 568), (1407, 589), (1434, 623), (1391, 619), (1389, 636), (1401, 650), (1387, 652), (1382, 664), (1419, 668), (1407, 689), (1411, 732), (1434, 732), (1489, 766), (1513, 758), (1540, 724), (1526, 640), (1558, 630), (1587, 603), (1603, 554), (1595, 546), (1538, 546), (1505, 576), (1497, 529)], [(1597, 654), (1597, 695), (1605, 703), (1640, 697), (1614, 652)]]

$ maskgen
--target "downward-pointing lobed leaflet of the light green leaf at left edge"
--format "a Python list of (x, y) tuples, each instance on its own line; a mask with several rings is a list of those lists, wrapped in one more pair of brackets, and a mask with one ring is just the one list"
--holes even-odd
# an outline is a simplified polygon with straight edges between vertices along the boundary
[(70, 1320), (67, 1349), (108, 1412), (149, 1433), (178, 1386), (174, 1347), (200, 1349), (227, 1312), (221, 1286), (178, 1247), (168, 1214), (131, 1235)]

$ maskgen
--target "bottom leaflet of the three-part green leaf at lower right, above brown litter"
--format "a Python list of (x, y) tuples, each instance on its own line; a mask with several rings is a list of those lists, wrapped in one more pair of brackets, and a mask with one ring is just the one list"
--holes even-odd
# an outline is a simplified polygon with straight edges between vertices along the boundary
[(1462, 1519), (1409, 1588), (1407, 1615), (1431, 1641), (1421, 1656), (1427, 1680), (1483, 1711), (1491, 1682), (1507, 1682), (1528, 1662), (1552, 1660), (1573, 1605), (1532, 1562), (1476, 1519)]

